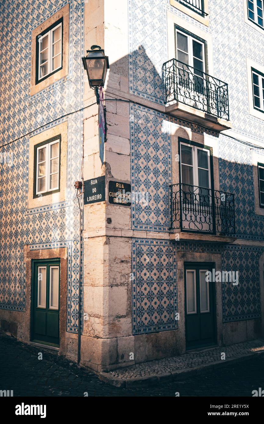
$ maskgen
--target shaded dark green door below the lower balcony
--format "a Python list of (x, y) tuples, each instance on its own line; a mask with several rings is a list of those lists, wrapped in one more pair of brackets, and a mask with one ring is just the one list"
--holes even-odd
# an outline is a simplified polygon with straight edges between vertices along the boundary
[(186, 349), (214, 345), (215, 287), (214, 282), (206, 282), (206, 271), (212, 272), (212, 265), (188, 264), (184, 271)]

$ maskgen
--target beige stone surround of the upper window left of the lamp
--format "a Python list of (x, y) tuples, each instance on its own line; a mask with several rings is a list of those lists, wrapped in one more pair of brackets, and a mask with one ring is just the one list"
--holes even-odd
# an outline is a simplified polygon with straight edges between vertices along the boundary
[[(63, 38), (62, 38), (62, 67), (60, 70), (55, 71), (40, 80), (36, 84), (36, 40), (39, 34), (42, 34), (45, 30), (50, 28), (55, 22), (63, 19)], [(64, 78), (69, 73), (69, 4), (61, 8), (58, 12), (52, 15), (49, 19), (39, 25), (32, 31), (31, 37), (31, 86), (30, 86), (30, 95), (33, 96), (39, 91), (47, 88), (51, 84), (54, 84), (56, 81), (59, 81), (61, 78)]]

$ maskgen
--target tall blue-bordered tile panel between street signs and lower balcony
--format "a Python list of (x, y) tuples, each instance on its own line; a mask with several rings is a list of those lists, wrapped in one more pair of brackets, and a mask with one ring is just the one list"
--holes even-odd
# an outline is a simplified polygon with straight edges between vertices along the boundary
[[(132, 228), (149, 231), (170, 229), (170, 135), (162, 114), (131, 106)], [(147, 195), (147, 198), (146, 198)]]

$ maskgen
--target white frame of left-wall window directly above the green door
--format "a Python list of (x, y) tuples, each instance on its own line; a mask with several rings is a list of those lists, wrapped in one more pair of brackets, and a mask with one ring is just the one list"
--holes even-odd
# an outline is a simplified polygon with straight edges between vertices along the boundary
[[(57, 187), (53, 187), (50, 188), (50, 176), (55, 174), (50, 173), (50, 151), (51, 151), (51, 146), (53, 144), (58, 143), (58, 156), (55, 156), (52, 159), (56, 159), (58, 158), (58, 186)], [(39, 150), (46, 148), (46, 173), (45, 173), (45, 177), (46, 177), (46, 184), (45, 184), (45, 189), (42, 191), (38, 191), (38, 187), (39, 187)], [(59, 189), (59, 181), (60, 181), (60, 139), (56, 139), (52, 142), (49, 142), (47, 144), (43, 144), (41, 146), (38, 146), (36, 149), (36, 194), (42, 194), (42, 193), (47, 193), (50, 191), (54, 191), (54, 190), (58, 190)]]

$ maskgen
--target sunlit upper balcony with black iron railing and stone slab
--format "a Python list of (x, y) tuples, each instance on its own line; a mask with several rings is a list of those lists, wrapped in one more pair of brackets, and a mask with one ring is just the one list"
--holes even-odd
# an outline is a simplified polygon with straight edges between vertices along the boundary
[(162, 66), (166, 112), (215, 131), (231, 128), (228, 84), (177, 59)]

